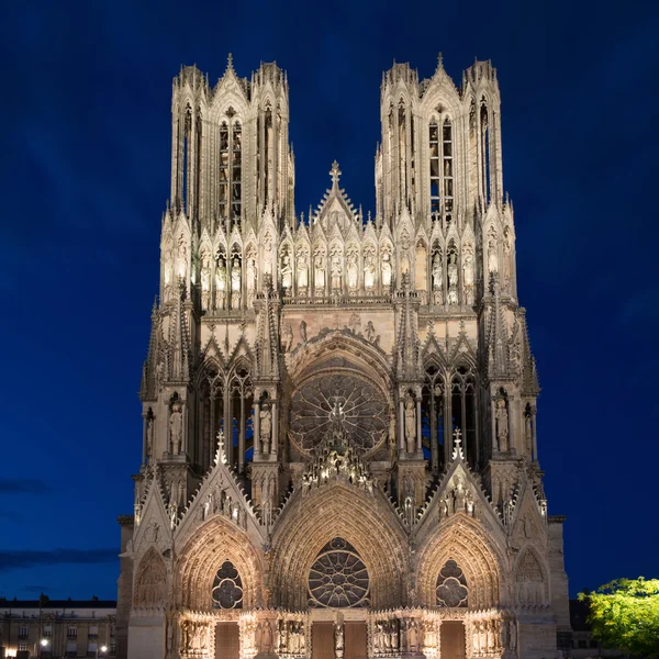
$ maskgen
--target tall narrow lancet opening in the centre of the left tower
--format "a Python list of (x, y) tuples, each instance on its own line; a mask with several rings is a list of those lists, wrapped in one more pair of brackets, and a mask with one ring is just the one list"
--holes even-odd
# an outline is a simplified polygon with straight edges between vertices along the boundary
[[(234, 114), (230, 108), (227, 114)], [(237, 222), (241, 217), (243, 153), (242, 126), (239, 121), (231, 119), (220, 124), (219, 133), (219, 190), (217, 213), (225, 222)]]

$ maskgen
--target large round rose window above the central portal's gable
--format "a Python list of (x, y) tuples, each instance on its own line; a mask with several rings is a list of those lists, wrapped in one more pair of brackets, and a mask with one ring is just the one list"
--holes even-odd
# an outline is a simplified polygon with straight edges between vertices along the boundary
[(361, 375), (317, 375), (293, 393), (290, 437), (298, 448), (311, 453), (338, 421), (350, 445), (368, 453), (384, 438), (387, 411), (382, 392)]

